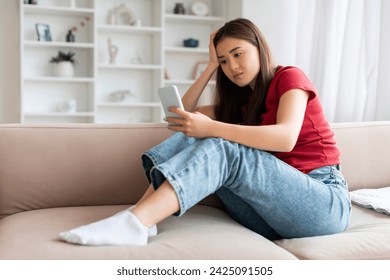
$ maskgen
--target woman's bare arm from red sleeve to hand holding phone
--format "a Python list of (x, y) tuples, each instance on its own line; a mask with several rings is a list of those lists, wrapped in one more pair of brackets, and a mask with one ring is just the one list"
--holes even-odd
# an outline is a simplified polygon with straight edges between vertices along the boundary
[(173, 109), (183, 119), (173, 121), (181, 126), (170, 126), (188, 136), (220, 137), (232, 142), (267, 151), (291, 151), (298, 139), (306, 111), (309, 93), (300, 89), (289, 90), (280, 98), (276, 124), (266, 126), (234, 125), (214, 121), (199, 112), (189, 113)]

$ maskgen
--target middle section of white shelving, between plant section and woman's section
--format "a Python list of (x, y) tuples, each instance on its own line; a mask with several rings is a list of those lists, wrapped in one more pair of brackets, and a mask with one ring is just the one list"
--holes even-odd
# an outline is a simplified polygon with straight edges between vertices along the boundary
[[(122, 3), (131, 10), (131, 20), (137, 24), (123, 24), (126, 18), (122, 24), (115, 24), (110, 19), (114, 8)], [(97, 1), (96, 122), (161, 121), (161, 106), (155, 93), (163, 75), (162, 5), (160, 0)], [(109, 39), (118, 47), (115, 64), (109, 63)], [(128, 94), (120, 102), (110, 102), (110, 95), (118, 91)]]

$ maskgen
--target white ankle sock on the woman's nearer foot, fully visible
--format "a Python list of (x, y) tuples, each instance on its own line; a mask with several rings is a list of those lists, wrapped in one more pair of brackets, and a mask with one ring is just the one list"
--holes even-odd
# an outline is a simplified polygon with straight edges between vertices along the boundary
[(130, 211), (61, 232), (60, 238), (81, 245), (145, 245), (148, 228)]

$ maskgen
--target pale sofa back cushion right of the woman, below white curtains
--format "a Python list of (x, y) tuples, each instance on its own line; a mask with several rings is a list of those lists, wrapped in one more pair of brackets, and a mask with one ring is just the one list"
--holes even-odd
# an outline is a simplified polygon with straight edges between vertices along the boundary
[(350, 190), (390, 186), (390, 122), (332, 124)]

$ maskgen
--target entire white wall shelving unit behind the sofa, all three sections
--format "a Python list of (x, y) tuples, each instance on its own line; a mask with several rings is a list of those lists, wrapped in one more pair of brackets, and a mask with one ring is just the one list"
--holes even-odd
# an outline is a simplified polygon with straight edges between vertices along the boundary
[[(174, 14), (177, 2), (183, 3), (186, 14)], [(207, 16), (192, 15), (193, 2), (39, 0), (28, 5), (20, 0), (21, 121), (161, 121), (157, 89), (175, 84), (184, 94), (199, 62), (208, 60), (209, 34), (228, 17), (228, 0), (202, 0), (210, 9)], [(36, 23), (50, 26), (52, 41), (37, 40)], [(66, 42), (74, 25), (76, 40)], [(188, 38), (199, 40), (199, 46), (184, 47)], [(115, 61), (110, 46), (117, 48)], [(55, 76), (50, 59), (58, 51), (75, 53), (73, 77)], [(210, 102), (214, 86), (211, 81), (201, 102)], [(118, 94), (123, 98), (113, 100)], [(75, 101), (76, 110), (63, 110), (68, 100)]]

